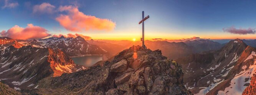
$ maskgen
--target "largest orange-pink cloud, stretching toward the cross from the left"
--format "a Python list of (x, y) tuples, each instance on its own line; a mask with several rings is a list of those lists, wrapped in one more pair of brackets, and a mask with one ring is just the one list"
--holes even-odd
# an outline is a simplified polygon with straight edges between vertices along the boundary
[(60, 6), (59, 11), (67, 12), (67, 15), (61, 14), (56, 17), (56, 21), (61, 26), (72, 32), (83, 30), (113, 30), (116, 23), (109, 19), (101, 19), (95, 16), (86, 15), (78, 10), (77, 6)]

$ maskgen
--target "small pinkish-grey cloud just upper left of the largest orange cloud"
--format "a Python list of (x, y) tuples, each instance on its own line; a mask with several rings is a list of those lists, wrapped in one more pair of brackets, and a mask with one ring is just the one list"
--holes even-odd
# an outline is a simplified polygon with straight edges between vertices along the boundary
[(33, 13), (52, 14), (55, 12), (54, 8), (55, 8), (55, 6), (51, 5), (50, 3), (42, 3), (41, 5), (35, 5), (33, 7)]

